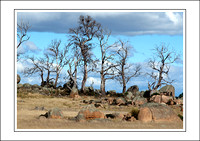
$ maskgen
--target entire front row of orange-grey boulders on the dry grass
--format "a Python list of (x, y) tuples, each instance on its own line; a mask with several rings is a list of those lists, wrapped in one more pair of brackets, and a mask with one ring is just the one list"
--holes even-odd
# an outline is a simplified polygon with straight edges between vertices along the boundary
[[(41, 114), (40, 117), (52, 118), (52, 119), (62, 119), (64, 117), (63, 112), (59, 108), (50, 109), (45, 114)], [(166, 105), (159, 103), (145, 103), (140, 106), (138, 115), (132, 115), (131, 113), (108, 113), (104, 114), (94, 105), (89, 104), (82, 107), (78, 112), (77, 116), (70, 118), (76, 122), (85, 122), (91, 120), (98, 121), (110, 121), (110, 120), (121, 120), (134, 122), (136, 120), (142, 122), (152, 122), (152, 121), (181, 121), (180, 117), (175, 114), (175, 112)]]

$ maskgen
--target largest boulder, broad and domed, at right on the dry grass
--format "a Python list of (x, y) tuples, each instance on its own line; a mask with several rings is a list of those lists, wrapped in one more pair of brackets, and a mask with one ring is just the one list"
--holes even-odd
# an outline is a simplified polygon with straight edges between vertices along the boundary
[(141, 121), (180, 121), (180, 118), (167, 105), (145, 103), (140, 106), (138, 120)]

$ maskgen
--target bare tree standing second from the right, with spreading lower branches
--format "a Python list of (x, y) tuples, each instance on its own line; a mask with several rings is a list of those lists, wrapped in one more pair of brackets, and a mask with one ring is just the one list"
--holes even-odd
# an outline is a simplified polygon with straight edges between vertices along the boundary
[(128, 42), (119, 40), (120, 50), (117, 52), (119, 57), (119, 67), (117, 69), (116, 79), (122, 84), (123, 90), (122, 93), (126, 92), (126, 84), (130, 81), (131, 78), (137, 77), (140, 75), (141, 65), (136, 65), (128, 63), (129, 52), (131, 46), (128, 45)]

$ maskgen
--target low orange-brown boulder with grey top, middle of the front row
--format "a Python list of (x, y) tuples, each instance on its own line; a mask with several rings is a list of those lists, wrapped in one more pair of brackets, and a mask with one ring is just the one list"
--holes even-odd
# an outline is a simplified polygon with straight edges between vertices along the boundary
[(104, 113), (100, 112), (94, 107), (94, 105), (88, 105), (81, 109), (78, 115), (75, 117), (76, 121), (92, 120), (92, 119), (104, 119)]

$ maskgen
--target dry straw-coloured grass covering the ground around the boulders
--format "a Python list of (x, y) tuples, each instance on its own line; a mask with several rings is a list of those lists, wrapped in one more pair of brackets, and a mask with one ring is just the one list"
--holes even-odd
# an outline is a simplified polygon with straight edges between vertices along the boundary
[[(149, 122), (140, 121), (88, 121), (76, 122), (69, 120), (75, 117), (81, 107), (86, 104), (83, 100), (95, 99), (92, 96), (81, 96), (80, 99), (73, 100), (68, 97), (50, 97), (40, 94), (27, 94), (17, 97), (17, 129), (183, 129), (183, 122)], [(44, 110), (35, 110), (35, 107), (44, 107)], [(45, 114), (48, 109), (58, 107), (63, 111), (63, 119), (38, 118), (40, 114)], [(99, 108), (104, 114), (107, 113), (128, 113), (131, 106), (105, 105)], [(175, 110), (179, 114), (178, 110)]]

